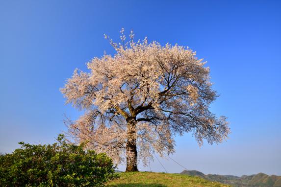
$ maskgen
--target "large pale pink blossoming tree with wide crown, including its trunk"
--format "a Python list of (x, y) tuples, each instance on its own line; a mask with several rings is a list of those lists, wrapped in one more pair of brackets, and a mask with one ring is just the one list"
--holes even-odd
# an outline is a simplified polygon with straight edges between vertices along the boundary
[(126, 161), (126, 171), (148, 164), (155, 152), (173, 153), (176, 135), (190, 132), (199, 145), (225, 140), (226, 117), (208, 109), (218, 95), (205, 62), (188, 47), (133, 38), (131, 31), (126, 43), (122, 29), (121, 43), (109, 39), (114, 56), (95, 57), (89, 72), (75, 70), (61, 89), (67, 103), (86, 111), (69, 123), (74, 140), (116, 164)]

